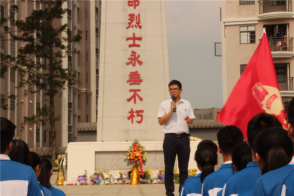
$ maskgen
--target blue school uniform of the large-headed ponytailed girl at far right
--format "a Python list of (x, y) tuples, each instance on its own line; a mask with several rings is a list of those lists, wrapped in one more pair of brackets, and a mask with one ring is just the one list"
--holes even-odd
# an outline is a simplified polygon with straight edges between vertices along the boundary
[(293, 159), (288, 165), (260, 176), (255, 182), (252, 195), (281, 195), (281, 187), (285, 178), (294, 170), (292, 162)]

